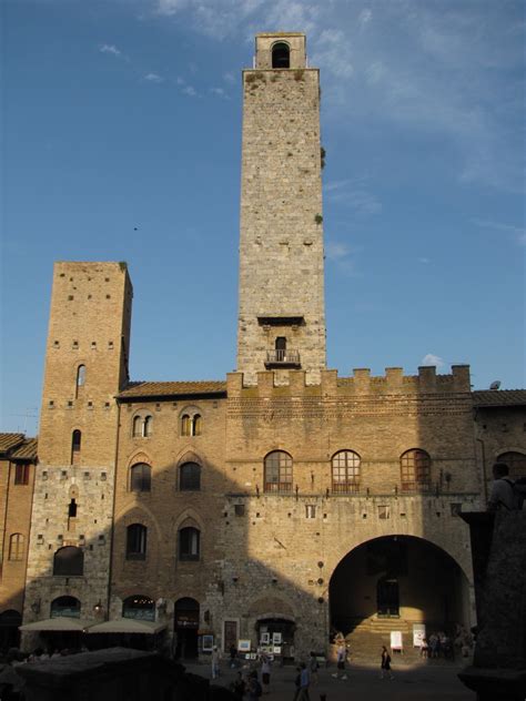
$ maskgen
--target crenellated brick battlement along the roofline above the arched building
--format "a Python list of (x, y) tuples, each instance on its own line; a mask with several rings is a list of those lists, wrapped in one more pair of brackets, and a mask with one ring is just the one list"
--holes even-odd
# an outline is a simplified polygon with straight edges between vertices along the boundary
[(337, 370), (322, 370), (317, 385), (305, 383), (304, 370), (264, 370), (247, 385), (243, 373), (227, 374), (229, 397), (346, 397), (360, 395), (471, 393), (468, 365), (453, 365), (452, 373), (437, 375), (436, 367), (418, 367), (418, 375), (404, 375), (401, 367), (387, 367), (385, 375), (371, 376), (370, 368), (355, 368), (353, 376), (338, 377)]

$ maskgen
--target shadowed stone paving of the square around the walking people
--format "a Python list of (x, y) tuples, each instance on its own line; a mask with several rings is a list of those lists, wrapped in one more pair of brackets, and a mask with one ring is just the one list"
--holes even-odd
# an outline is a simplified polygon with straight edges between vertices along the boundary
[[(475, 694), (466, 689), (457, 674), (464, 668), (461, 663), (439, 663), (434, 661), (418, 666), (393, 666), (393, 681), (380, 679), (377, 667), (361, 664), (348, 666), (347, 680), (334, 679), (334, 667), (320, 670), (318, 683), (311, 685), (311, 701), (318, 701), (321, 694), (326, 694), (326, 701), (344, 701), (356, 699), (366, 701), (475, 701)], [(210, 668), (205, 664), (188, 664), (188, 671), (211, 678)], [(222, 664), (222, 674), (215, 680), (216, 684), (227, 687), (237, 670), (231, 670), (226, 663)], [(271, 674), (270, 693), (264, 698), (269, 701), (293, 701), (294, 698), (294, 667), (273, 668)]]

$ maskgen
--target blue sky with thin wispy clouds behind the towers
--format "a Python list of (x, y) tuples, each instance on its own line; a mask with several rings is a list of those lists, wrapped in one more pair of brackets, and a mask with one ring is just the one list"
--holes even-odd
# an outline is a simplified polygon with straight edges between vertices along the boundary
[(1, 12), (0, 430), (37, 430), (55, 260), (128, 262), (133, 379), (235, 367), (240, 85), (257, 31), (305, 31), (321, 69), (328, 366), (468, 363), (475, 388), (525, 386), (523, 2)]

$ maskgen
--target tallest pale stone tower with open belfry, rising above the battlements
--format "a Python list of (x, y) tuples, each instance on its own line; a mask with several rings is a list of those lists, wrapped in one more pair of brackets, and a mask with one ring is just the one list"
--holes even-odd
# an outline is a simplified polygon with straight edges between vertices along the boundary
[(237, 370), (325, 367), (320, 74), (305, 35), (262, 33), (243, 71)]

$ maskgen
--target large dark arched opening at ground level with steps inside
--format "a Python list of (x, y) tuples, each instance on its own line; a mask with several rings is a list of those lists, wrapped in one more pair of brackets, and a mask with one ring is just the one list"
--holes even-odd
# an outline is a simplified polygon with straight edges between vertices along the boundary
[(425, 636), (471, 626), (469, 582), (458, 563), (434, 543), (413, 536), (387, 536), (362, 543), (338, 563), (330, 582), (331, 631), (390, 642), (399, 631), (413, 648)]

